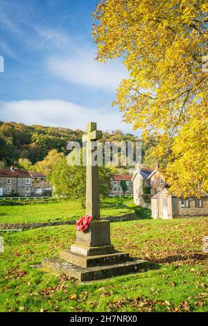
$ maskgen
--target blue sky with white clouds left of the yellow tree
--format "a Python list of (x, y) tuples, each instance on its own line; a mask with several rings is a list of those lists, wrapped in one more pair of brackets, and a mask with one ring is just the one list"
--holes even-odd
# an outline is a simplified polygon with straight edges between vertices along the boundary
[[(0, 0), (0, 120), (132, 132), (111, 102), (128, 76), (121, 61), (95, 62), (96, 0)], [(136, 132), (137, 133), (137, 132)]]

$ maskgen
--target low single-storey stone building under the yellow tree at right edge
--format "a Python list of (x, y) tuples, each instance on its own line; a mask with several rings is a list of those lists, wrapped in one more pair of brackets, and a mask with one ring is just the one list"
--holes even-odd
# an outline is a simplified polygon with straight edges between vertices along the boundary
[(182, 218), (208, 216), (208, 194), (201, 198), (179, 198), (171, 194), (168, 189), (160, 190), (151, 198), (153, 218)]

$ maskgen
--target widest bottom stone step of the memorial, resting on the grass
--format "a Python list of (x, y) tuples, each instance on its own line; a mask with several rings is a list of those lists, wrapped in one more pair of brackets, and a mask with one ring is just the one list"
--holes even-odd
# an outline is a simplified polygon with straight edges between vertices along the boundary
[(129, 259), (123, 264), (114, 264), (108, 266), (98, 266), (84, 268), (74, 264), (70, 264), (60, 258), (42, 260), (42, 267), (55, 271), (58, 274), (64, 273), (69, 277), (75, 277), (80, 282), (88, 282), (92, 280), (103, 280), (119, 275), (139, 273), (139, 270), (146, 268), (148, 261), (141, 259)]

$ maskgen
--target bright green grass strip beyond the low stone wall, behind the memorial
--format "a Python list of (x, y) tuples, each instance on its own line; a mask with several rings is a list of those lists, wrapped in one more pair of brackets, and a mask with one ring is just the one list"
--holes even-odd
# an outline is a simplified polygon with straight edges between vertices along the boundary
[[(107, 198), (101, 200), (101, 216), (119, 216), (134, 212), (125, 206), (127, 198)], [(50, 221), (77, 220), (85, 214), (78, 201), (60, 201), (58, 203), (32, 203), (26, 205), (1, 205), (0, 223), (35, 223)], [(17, 203), (18, 204), (18, 203)]]

